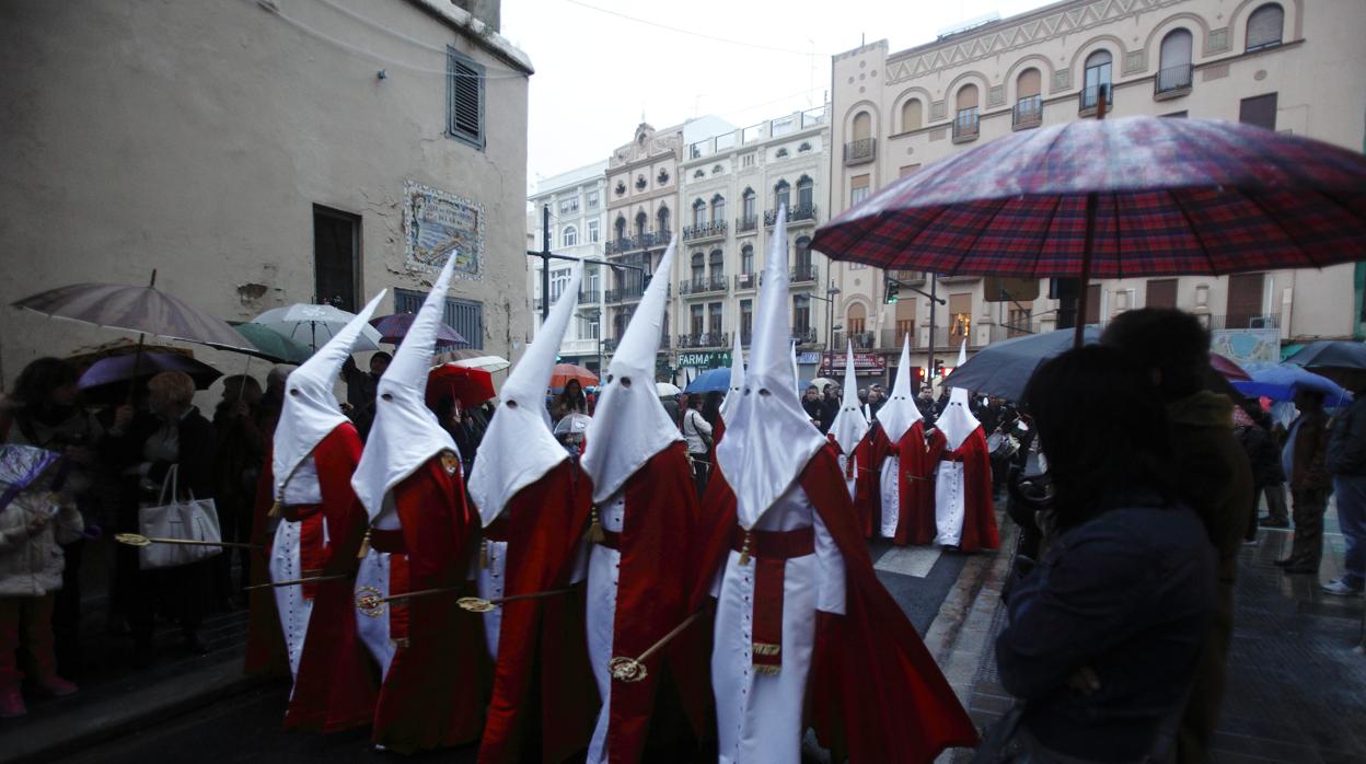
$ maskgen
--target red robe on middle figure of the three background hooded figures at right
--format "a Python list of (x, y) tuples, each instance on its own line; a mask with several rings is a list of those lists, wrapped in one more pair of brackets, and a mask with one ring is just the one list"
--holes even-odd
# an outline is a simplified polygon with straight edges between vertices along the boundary
[[(893, 544), (933, 544), (934, 543), (934, 470), (938, 466), (938, 455), (925, 443), (925, 422), (912, 424), (902, 440), (895, 446), (887, 439), (887, 431), (881, 425), (873, 428), (874, 443), (870, 474), (870, 502), (873, 510), (870, 515), (873, 525), (869, 534), (877, 528), (882, 518), (882, 466), (888, 456), (896, 456), (900, 462), (900, 507), (896, 514), (896, 536)], [(943, 436), (940, 436), (943, 440)]]

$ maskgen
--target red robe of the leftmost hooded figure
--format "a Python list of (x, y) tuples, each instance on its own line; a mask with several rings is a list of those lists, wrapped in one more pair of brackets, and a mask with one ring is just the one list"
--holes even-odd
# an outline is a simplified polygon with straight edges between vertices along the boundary
[[(369, 724), (374, 719), (378, 671), (370, 660), (355, 627), (357, 551), (370, 523), (365, 507), (351, 489), (351, 474), (361, 461), (361, 436), (351, 422), (337, 425), (313, 450), (322, 492), (321, 513), (303, 519), (302, 534), (317, 537), (318, 559), (305, 563), (321, 575), (346, 574), (347, 578), (321, 581), (305, 586), (313, 597), (309, 631), (299, 656), (294, 697), (284, 715), (287, 730), (333, 733)], [(298, 511), (291, 507), (288, 511)], [(326, 538), (322, 544), (322, 523)], [(306, 549), (301, 549), (307, 555)]]

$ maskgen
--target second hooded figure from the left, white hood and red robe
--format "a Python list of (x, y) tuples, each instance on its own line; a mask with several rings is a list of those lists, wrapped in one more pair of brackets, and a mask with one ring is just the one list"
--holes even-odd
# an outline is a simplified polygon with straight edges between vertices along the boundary
[[(473, 742), (484, 715), (479, 620), (455, 604), (478, 519), (464, 502), (455, 441), (426, 406), (454, 264), (451, 256), (380, 377), (370, 439), (351, 478), (370, 518), (355, 618), (384, 668), (372, 738), (398, 752)], [(423, 589), (447, 592), (376, 601)]]

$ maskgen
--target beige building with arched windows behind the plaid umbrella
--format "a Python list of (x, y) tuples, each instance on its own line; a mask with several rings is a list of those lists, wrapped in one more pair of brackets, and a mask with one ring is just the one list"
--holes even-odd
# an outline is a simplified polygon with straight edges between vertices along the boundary
[[(1068, 0), (979, 25), (907, 51), (887, 41), (835, 56), (831, 215), (921, 167), (1018, 130), (1109, 115), (1240, 120), (1361, 150), (1366, 137), (1366, 4), (1359, 0)], [(885, 305), (884, 273), (835, 264), (839, 314), (859, 349), (895, 355), (911, 335), (914, 362), (952, 366), (970, 349), (1055, 327), (1057, 302), (1000, 301), (981, 277), (899, 273), (947, 301), (906, 288)], [(1315, 338), (1361, 338), (1361, 265), (1235, 276), (1093, 283), (1089, 323), (1142, 306), (1194, 312), (1216, 350), (1279, 358)], [(993, 294), (988, 294), (988, 288)], [(1016, 286), (1027, 292), (1027, 286)], [(948, 347), (947, 347), (948, 346)], [(895, 358), (893, 358), (895, 362)]]

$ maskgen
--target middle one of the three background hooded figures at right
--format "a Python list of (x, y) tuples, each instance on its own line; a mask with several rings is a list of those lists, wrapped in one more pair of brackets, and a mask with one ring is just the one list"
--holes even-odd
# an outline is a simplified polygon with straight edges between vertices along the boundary
[(925, 422), (911, 392), (911, 338), (902, 342), (892, 395), (877, 410), (873, 469), (878, 476), (881, 534), (896, 544), (934, 540), (934, 466), (925, 446)]

